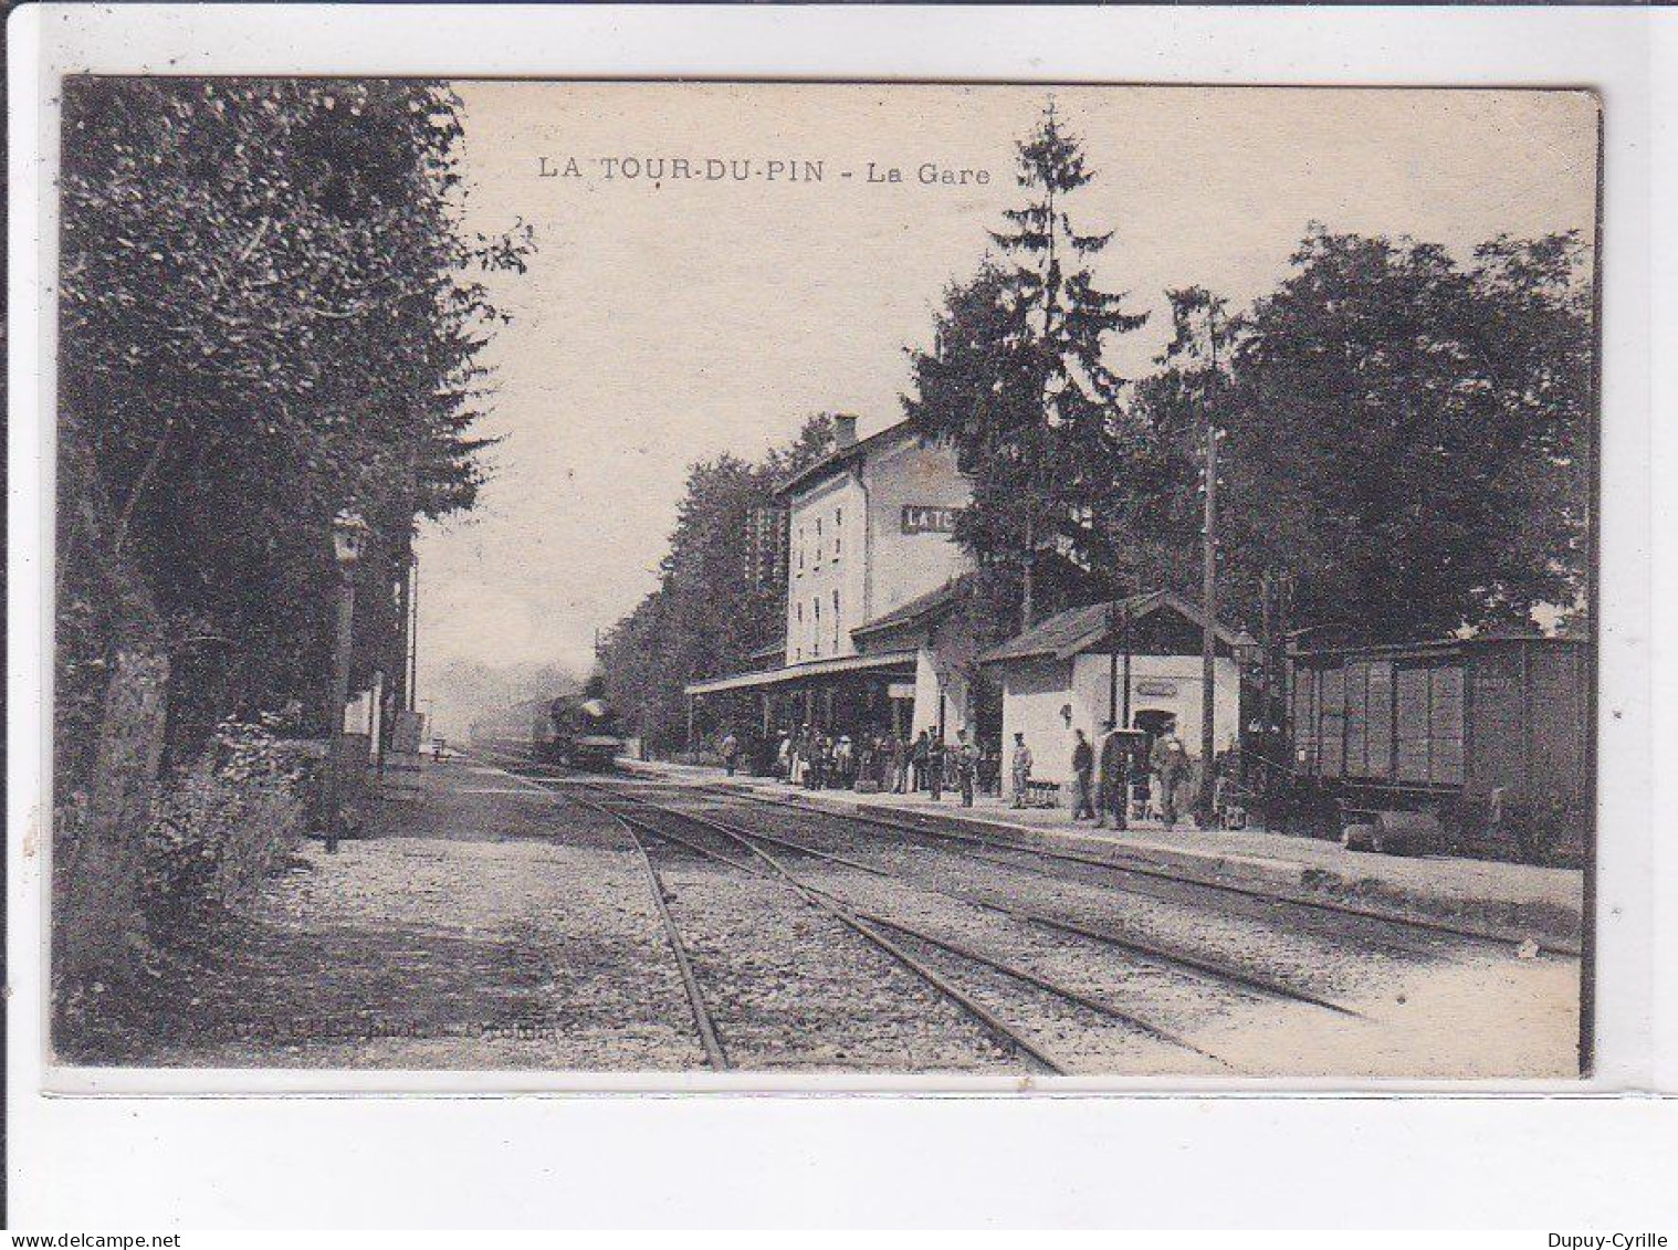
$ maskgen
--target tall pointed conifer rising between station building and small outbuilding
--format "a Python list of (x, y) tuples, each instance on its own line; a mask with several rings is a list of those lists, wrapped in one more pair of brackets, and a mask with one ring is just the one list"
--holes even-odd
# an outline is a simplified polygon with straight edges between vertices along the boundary
[(926, 435), (955, 441), (973, 483), (956, 537), (1017, 591), (1020, 624), (1030, 626), (1045, 555), (1084, 570), (1111, 562), (1097, 515), (1116, 485), (1124, 379), (1104, 349), (1146, 314), (1096, 285), (1089, 258), (1111, 233), (1072, 225), (1066, 200), (1094, 174), (1052, 104), (1017, 154), (1027, 201), (992, 233), (1000, 260), (948, 292), (938, 347), (911, 352), (904, 411)]

